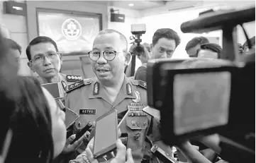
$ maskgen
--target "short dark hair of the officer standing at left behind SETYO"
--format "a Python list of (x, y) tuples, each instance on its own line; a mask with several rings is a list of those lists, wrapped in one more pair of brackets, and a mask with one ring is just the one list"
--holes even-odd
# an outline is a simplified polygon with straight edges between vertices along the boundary
[(59, 52), (59, 49), (57, 49), (57, 44), (55, 41), (53, 41), (50, 37), (46, 37), (46, 36), (38, 36), (35, 37), (31, 42), (29, 42), (28, 47), (26, 49), (26, 54), (28, 56), (28, 61), (31, 60), (31, 54), (30, 54), (30, 47), (35, 45), (35, 44), (40, 44), (40, 43), (48, 43), (50, 42), (51, 44), (53, 44), (53, 46), (56, 49), (56, 52)]

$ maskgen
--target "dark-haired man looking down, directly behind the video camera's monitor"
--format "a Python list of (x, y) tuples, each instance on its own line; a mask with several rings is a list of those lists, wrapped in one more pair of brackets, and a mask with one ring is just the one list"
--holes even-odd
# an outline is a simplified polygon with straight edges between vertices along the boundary
[(152, 37), (151, 55), (147, 48), (144, 48), (143, 56), (145, 57), (145, 64), (140, 66), (135, 73), (135, 80), (143, 80), (147, 82), (147, 65), (148, 59), (166, 59), (171, 58), (175, 49), (180, 44), (181, 40), (177, 32), (169, 28), (160, 28), (155, 31)]

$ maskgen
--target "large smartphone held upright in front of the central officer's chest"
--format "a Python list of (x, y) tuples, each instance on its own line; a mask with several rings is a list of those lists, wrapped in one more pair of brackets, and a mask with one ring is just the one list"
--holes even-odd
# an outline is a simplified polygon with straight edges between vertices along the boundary
[(106, 160), (108, 153), (116, 149), (118, 139), (118, 118), (116, 109), (96, 119), (94, 135), (94, 158), (103, 157)]

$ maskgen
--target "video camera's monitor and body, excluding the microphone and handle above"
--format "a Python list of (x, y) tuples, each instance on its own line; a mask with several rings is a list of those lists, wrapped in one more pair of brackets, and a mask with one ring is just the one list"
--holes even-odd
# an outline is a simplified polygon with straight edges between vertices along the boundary
[(164, 143), (219, 133), (252, 149), (244, 137), (255, 133), (255, 63), (152, 59), (147, 67), (148, 106), (160, 111)]

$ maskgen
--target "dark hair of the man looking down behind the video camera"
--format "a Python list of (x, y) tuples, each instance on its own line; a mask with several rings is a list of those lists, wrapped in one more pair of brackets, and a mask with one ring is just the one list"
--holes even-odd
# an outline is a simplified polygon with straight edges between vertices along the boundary
[(153, 39), (152, 39), (153, 46), (155, 46), (155, 44), (157, 44), (158, 40), (160, 40), (161, 38), (174, 40), (176, 47), (178, 47), (178, 45), (181, 42), (177, 32), (175, 32), (174, 30), (169, 29), (169, 28), (160, 28), (157, 31), (155, 31), (155, 33), (153, 35)]

